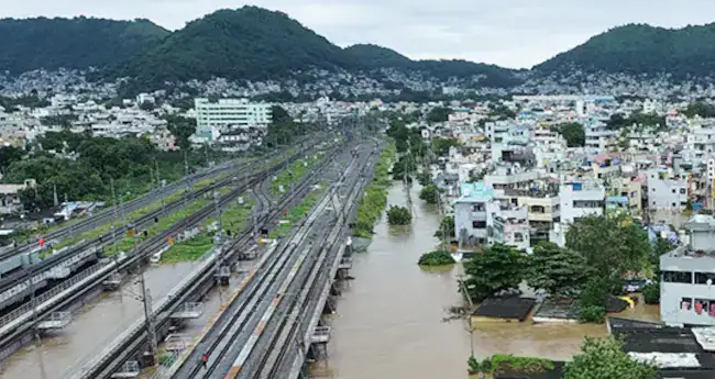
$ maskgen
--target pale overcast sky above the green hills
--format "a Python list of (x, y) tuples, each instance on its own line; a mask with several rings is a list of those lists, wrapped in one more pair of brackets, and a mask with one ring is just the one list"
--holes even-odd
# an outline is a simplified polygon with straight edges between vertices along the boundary
[[(170, 30), (230, 0), (2, 0), (3, 16), (144, 18)], [(411, 58), (530, 67), (609, 27), (680, 27), (715, 21), (713, 0), (254, 0), (340, 46), (374, 43)]]

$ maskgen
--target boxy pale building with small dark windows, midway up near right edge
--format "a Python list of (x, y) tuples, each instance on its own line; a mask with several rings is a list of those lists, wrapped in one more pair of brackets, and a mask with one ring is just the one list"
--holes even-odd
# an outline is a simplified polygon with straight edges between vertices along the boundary
[(688, 203), (688, 178), (671, 169), (651, 168), (646, 171), (649, 210), (683, 210)]

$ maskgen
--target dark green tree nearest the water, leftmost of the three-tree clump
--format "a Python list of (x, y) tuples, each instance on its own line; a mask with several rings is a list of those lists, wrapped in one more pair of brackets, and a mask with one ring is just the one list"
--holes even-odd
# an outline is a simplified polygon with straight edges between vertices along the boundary
[(475, 300), (499, 290), (518, 288), (524, 279), (525, 257), (516, 248), (495, 244), (464, 264), (466, 289)]

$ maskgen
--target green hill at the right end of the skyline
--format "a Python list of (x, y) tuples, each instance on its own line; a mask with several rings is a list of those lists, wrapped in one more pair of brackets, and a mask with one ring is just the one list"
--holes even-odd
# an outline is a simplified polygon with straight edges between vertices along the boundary
[(629, 24), (612, 29), (586, 43), (537, 65), (537, 74), (624, 73), (671, 74), (674, 77), (715, 73), (715, 24), (664, 29)]

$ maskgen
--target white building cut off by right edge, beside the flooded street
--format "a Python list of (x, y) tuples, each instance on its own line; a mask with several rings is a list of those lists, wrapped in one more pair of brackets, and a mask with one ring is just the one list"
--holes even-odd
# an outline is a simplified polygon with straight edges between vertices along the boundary
[(660, 320), (715, 325), (715, 219), (698, 214), (684, 228), (689, 243), (660, 257)]

